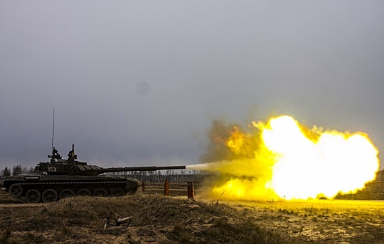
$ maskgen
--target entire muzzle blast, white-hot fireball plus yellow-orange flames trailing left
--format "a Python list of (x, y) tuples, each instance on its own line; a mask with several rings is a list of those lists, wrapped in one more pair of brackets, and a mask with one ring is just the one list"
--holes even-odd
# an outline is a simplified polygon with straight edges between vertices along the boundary
[[(356, 192), (374, 180), (378, 150), (362, 132), (305, 128), (290, 116), (253, 123), (256, 135), (235, 128), (230, 161), (209, 164), (233, 177), (213, 189), (227, 199), (308, 199)], [(252, 140), (260, 137), (258, 145)], [(244, 178), (244, 176), (246, 176)]]

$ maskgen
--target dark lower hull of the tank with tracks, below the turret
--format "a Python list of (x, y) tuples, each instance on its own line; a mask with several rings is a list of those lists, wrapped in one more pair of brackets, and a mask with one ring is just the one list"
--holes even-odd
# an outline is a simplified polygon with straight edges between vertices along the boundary
[(1, 180), (1, 190), (29, 203), (52, 202), (73, 196), (117, 197), (133, 194), (140, 185), (135, 178), (113, 176), (27, 174)]

